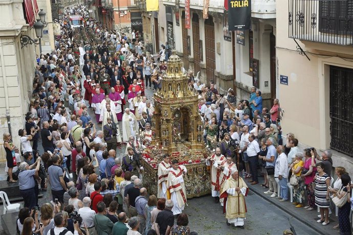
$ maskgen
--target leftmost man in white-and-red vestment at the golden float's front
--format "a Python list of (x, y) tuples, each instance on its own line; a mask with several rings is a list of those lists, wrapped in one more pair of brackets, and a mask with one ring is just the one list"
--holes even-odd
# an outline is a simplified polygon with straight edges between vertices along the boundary
[(167, 179), (171, 169), (169, 154), (163, 155), (163, 161), (158, 165), (158, 193), (157, 198), (167, 198)]

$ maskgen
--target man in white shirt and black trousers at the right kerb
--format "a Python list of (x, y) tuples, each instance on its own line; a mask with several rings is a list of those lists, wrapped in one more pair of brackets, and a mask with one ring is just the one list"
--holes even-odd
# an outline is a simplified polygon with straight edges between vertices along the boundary
[(249, 145), (247, 148), (247, 155), (249, 158), (249, 166), (250, 166), (250, 172), (251, 172), (251, 177), (252, 179), (249, 180), (248, 182), (251, 183), (251, 185), (257, 184), (258, 179), (257, 179), (257, 154), (260, 152), (260, 147), (257, 141), (255, 140), (255, 135), (250, 134), (249, 135)]

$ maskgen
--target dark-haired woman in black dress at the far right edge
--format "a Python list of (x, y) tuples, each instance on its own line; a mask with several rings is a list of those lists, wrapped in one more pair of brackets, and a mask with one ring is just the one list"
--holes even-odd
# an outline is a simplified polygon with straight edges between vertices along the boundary
[[(340, 188), (343, 189), (343, 192), (337, 194), (338, 198), (347, 197), (346, 203), (338, 208), (338, 223), (340, 228), (341, 235), (350, 235), (352, 234), (350, 229), (350, 177), (348, 174), (341, 175), (342, 186)], [(348, 196), (346, 195), (348, 194)]]

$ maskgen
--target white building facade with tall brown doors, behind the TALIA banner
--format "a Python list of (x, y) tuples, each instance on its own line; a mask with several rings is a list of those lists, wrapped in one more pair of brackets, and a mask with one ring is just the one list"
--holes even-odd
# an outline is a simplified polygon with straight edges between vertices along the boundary
[[(249, 99), (254, 85), (262, 91), (264, 104), (276, 97), (276, 2), (252, 1), (252, 28), (234, 33), (226, 30), (224, 1), (160, 1), (159, 12), (146, 12), (144, 25), (155, 53), (166, 41), (177, 51), (186, 70), (193, 70), (202, 83), (211, 81), (221, 93), (236, 88), (239, 99)], [(234, 37), (232, 39), (232, 37)], [(236, 40), (241, 38), (241, 40)], [(177, 43), (175, 43), (177, 42)], [(257, 65), (253, 81), (253, 61)]]

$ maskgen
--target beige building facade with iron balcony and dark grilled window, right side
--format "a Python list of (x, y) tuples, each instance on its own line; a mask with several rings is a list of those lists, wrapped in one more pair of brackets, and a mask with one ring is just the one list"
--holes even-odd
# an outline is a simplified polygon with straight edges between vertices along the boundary
[(353, 173), (353, 1), (277, 1), (283, 135), (331, 149), (334, 167)]

